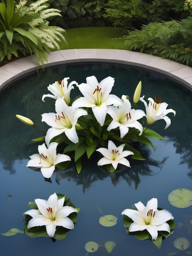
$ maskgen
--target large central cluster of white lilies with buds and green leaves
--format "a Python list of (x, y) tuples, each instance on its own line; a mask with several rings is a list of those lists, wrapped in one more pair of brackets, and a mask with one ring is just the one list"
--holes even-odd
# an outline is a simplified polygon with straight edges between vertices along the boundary
[[(148, 126), (164, 119), (167, 128), (171, 124), (167, 114), (176, 114), (174, 110), (167, 109), (168, 104), (161, 103), (160, 98), (158, 103), (156, 99), (149, 98), (147, 106), (144, 96), (141, 97), (141, 81), (134, 92), (133, 103), (135, 107), (139, 100), (142, 101), (146, 113), (132, 108), (128, 96), (122, 95), (120, 99), (110, 94), (114, 86), (111, 76), (100, 83), (95, 76), (87, 77), (87, 83), (81, 84), (72, 81), (68, 85), (68, 79), (49, 85), (47, 89), (52, 94), (42, 96), (42, 101), (46, 97), (55, 100), (55, 112), (42, 114), (42, 122), (51, 128), (45, 137), (33, 140), (44, 140), (45, 143), (38, 146), (38, 154), (30, 156), (27, 166), (40, 168), (45, 178), (51, 177), (58, 164), (65, 169), (70, 161), (75, 163), (80, 173), (84, 157), (89, 159), (96, 151), (103, 155), (98, 166), (106, 166), (109, 172), (116, 171), (118, 164), (130, 167), (125, 157), (131, 155), (133, 159), (144, 160), (134, 147), (135, 142), (154, 148), (149, 138), (163, 139)], [(83, 96), (71, 100), (70, 92), (74, 85)], [(16, 116), (25, 124), (34, 126), (27, 117)], [(143, 117), (147, 119), (146, 126)], [(63, 154), (56, 153), (57, 147)]]

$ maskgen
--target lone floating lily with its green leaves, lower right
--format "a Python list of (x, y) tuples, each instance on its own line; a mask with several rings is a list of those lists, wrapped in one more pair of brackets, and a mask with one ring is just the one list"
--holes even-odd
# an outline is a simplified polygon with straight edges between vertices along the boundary
[(164, 209), (158, 208), (156, 198), (152, 198), (145, 205), (142, 202), (134, 204), (133, 209), (122, 211), (123, 224), (128, 234), (140, 240), (150, 239), (161, 247), (163, 238), (174, 231), (174, 217)]

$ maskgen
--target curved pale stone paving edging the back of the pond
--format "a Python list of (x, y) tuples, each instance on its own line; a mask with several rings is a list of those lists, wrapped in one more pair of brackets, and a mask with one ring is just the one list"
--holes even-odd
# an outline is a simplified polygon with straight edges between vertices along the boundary
[[(160, 57), (116, 49), (68, 49), (51, 52), (45, 67), (78, 62), (108, 62), (155, 71), (192, 90), (192, 68)], [(19, 77), (37, 70), (36, 56), (13, 61), (0, 67), (0, 90)]]

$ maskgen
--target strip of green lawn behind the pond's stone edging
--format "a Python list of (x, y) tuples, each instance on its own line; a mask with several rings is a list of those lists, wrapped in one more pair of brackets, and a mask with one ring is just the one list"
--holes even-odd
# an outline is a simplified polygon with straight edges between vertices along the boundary
[(60, 49), (126, 49), (120, 27), (82, 27), (66, 29)]

